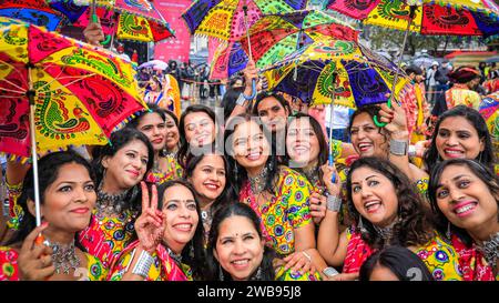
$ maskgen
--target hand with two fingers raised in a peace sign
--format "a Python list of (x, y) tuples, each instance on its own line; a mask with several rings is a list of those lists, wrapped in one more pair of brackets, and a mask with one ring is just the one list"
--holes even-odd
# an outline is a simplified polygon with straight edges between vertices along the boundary
[(152, 185), (152, 196), (149, 199), (147, 185), (141, 182), (142, 188), (142, 214), (135, 221), (135, 231), (140, 245), (152, 254), (163, 239), (164, 213), (157, 210), (157, 189)]

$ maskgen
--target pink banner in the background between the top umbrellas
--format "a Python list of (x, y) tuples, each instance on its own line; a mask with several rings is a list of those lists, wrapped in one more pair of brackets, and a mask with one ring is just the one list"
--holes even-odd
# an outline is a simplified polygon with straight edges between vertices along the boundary
[(166, 22), (170, 23), (176, 37), (156, 43), (154, 47), (154, 59), (165, 62), (169, 60), (187, 62), (189, 51), (191, 49), (191, 34), (181, 16), (191, 6), (191, 0), (154, 1), (155, 8), (161, 12)]

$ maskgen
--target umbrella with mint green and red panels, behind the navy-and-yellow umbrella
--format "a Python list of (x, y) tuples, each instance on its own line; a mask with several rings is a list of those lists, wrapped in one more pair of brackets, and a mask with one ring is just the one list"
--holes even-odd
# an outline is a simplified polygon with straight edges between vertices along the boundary
[[(299, 10), (262, 17), (249, 28), (256, 67), (264, 69), (314, 41), (333, 38), (357, 41), (358, 32), (318, 10)], [(248, 42), (240, 41), (248, 52)]]

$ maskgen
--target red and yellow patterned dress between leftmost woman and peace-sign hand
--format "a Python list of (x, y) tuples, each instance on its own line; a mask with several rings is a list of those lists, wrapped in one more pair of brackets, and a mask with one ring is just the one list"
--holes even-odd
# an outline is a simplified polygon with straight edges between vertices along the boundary
[(109, 269), (121, 251), (135, 239), (134, 222), (138, 213), (124, 211), (118, 218), (109, 218), (93, 211), (90, 225), (79, 234), (80, 243)]

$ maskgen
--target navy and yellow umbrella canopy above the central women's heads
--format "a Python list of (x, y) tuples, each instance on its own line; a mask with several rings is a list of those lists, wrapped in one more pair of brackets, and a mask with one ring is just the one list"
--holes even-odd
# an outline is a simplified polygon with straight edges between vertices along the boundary
[[(306, 103), (355, 109), (386, 102), (395, 73), (394, 63), (354, 41), (314, 42), (265, 72), (269, 88)], [(396, 93), (407, 80), (397, 81)]]

